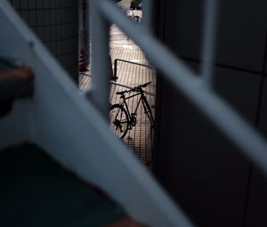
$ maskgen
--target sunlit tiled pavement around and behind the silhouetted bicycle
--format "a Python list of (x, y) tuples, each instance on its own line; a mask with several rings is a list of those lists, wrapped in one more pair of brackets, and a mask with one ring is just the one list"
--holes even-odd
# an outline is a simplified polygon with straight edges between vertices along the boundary
[[(110, 27), (110, 40), (109, 40), (109, 51), (112, 59), (112, 63), (116, 59), (122, 59), (126, 61), (132, 61), (136, 63), (142, 63), (150, 65), (145, 58), (142, 50), (139, 46), (135, 45), (132, 40), (123, 34), (115, 25)], [(114, 67), (114, 65), (113, 65)], [(80, 89), (88, 90), (91, 85), (90, 72), (87, 75), (81, 75), (80, 77)], [(142, 85), (146, 82), (151, 81), (151, 85), (145, 88), (146, 91), (156, 94), (156, 70), (147, 67), (134, 65), (123, 61), (117, 63), (117, 84), (111, 85), (110, 87), (110, 103), (114, 104), (119, 101), (119, 95), (116, 94), (118, 91), (123, 91), (126, 86)], [(146, 95), (147, 99), (152, 107), (153, 114), (155, 116), (155, 95)], [(138, 96), (128, 101), (128, 106), (134, 109), (138, 101)], [(141, 160), (141, 162), (148, 166), (152, 165), (151, 152), (153, 150), (153, 131), (150, 128), (150, 121), (144, 114), (142, 106), (139, 107), (137, 112), (137, 124), (132, 130), (129, 130), (124, 138), (125, 143), (128, 147), (133, 150), (134, 155)]]

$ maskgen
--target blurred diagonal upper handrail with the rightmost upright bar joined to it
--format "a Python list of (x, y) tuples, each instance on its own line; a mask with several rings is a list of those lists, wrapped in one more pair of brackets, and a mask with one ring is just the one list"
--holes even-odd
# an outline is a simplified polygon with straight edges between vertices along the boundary
[[(216, 28), (216, 13), (219, 0), (206, 0), (205, 8), (205, 34), (203, 48), (203, 67), (201, 77), (191, 71), (180, 59), (167, 51), (152, 36), (147, 26), (138, 26), (128, 20), (123, 12), (109, 0), (91, 1), (92, 11), (95, 17), (92, 22), (97, 24), (97, 20), (109, 20), (116, 23), (125, 34), (131, 37), (134, 42), (142, 47), (150, 60), (153, 61), (158, 69), (164, 72), (166, 79), (172, 82), (176, 89), (184, 95), (198, 108), (207, 118), (210, 118), (214, 126), (217, 126), (242, 152), (251, 158), (267, 174), (267, 144), (261, 134), (250, 126), (231, 106), (223, 101), (218, 94), (214, 93), (210, 87), (213, 79), (213, 59)], [(145, 1), (144, 1), (145, 2)], [(144, 4), (144, 13), (150, 4)], [(104, 29), (99, 27), (99, 29)], [(94, 31), (93, 31), (94, 32)], [(99, 38), (96, 42), (99, 48), (104, 44), (104, 40)], [(104, 54), (94, 56), (98, 58), (95, 62), (104, 58)], [(104, 87), (102, 87), (104, 89)]]

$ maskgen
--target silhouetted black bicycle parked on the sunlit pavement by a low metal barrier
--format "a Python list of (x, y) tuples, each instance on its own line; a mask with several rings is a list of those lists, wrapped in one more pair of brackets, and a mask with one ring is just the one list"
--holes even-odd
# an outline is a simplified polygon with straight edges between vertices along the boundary
[[(129, 90), (124, 90), (122, 92), (117, 92), (117, 95), (120, 95), (119, 103), (113, 104), (109, 110), (109, 120), (110, 126), (113, 132), (121, 139), (125, 137), (129, 129), (132, 129), (136, 125), (136, 116), (137, 109), (139, 108), (140, 103), (142, 102), (143, 109), (145, 110), (145, 114), (150, 120), (151, 128), (155, 126), (155, 120), (152, 114), (152, 110), (150, 108), (149, 101), (145, 96), (145, 91), (142, 89), (147, 85), (150, 85), (151, 82), (145, 83), (143, 85), (135, 86)], [(126, 96), (126, 93), (134, 93), (132, 95)], [(134, 109), (134, 112), (130, 112), (129, 107), (127, 105), (127, 100), (134, 98), (135, 96), (140, 95), (139, 100), (137, 101), (137, 105)]]

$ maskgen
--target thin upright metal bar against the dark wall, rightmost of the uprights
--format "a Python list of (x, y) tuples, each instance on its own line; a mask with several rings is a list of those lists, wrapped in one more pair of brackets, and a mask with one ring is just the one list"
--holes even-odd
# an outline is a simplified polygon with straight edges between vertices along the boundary
[(207, 86), (212, 85), (213, 68), (214, 68), (214, 50), (216, 41), (216, 25), (218, 14), (219, 0), (206, 0), (205, 18), (204, 18), (204, 33), (202, 45), (202, 69), (204, 82)]

